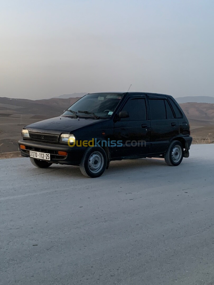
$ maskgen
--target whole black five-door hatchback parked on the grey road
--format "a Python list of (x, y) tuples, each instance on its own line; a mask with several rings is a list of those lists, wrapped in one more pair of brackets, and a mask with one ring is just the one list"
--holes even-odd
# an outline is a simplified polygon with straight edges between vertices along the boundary
[(98, 177), (112, 160), (162, 157), (177, 166), (189, 157), (188, 120), (169, 95), (140, 92), (90, 93), (59, 117), (26, 126), (21, 155), (33, 165), (79, 165)]

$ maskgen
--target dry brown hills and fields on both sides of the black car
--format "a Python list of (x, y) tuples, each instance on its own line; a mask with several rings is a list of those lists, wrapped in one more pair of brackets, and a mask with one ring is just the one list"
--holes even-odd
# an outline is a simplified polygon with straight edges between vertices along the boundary
[[(56, 117), (79, 97), (45, 100), (10, 99), (0, 97), (0, 153), (17, 151), (21, 129), (43, 119)], [(214, 104), (180, 104), (191, 125), (194, 143), (214, 142)]]

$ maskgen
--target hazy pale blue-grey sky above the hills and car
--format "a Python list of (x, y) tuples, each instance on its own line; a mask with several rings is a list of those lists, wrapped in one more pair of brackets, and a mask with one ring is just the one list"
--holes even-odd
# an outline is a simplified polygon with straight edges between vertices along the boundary
[(0, 0), (0, 97), (214, 96), (213, 15), (213, 0)]

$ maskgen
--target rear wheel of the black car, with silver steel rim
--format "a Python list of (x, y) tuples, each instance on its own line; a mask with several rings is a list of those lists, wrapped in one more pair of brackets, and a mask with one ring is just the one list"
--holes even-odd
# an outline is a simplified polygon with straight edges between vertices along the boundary
[(166, 164), (177, 166), (183, 160), (183, 145), (179, 141), (172, 141), (164, 154)]

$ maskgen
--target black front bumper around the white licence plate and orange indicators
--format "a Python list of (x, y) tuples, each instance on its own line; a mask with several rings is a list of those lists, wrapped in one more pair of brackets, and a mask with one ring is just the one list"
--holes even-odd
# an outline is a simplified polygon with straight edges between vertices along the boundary
[[(51, 154), (50, 162), (68, 165), (79, 165), (86, 150), (84, 146), (70, 147), (67, 144), (45, 143), (27, 139), (19, 140), (18, 144), (19, 146), (22, 144), (26, 147), (25, 150), (20, 149), (21, 155), (24, 157), (30, 157), (30, 150), (45, 152)], [(58, 151), (65, 151), (68, 154), (66, 156), (58, 155)]]

